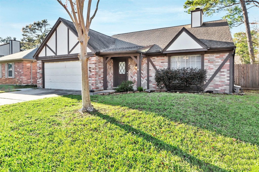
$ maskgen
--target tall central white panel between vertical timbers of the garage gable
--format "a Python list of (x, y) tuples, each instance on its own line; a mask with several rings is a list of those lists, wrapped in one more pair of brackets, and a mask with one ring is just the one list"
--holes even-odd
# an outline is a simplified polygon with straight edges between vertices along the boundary
[(57, 55), (68, 53), (67, 27), (61, 22), (57, 27)]

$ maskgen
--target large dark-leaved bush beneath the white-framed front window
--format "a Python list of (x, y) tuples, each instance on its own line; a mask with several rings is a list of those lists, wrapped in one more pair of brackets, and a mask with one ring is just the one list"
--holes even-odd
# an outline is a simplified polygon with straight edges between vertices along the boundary
[(198, 68), (159, 69), (155, 73), (155, 81), (159, 88), (165, 87), (167, 91), (189, 91), (192, 85), (197, 87), (197, 91), (202, 91), (206, 71), (207, 69)]

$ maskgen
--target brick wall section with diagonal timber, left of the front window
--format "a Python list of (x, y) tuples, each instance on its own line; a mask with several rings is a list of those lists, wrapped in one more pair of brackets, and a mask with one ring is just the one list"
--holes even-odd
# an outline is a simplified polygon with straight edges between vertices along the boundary
[[(152, 57), (150, 60), (154, 63), (157, 69), (167, 68), (168, 67), (168, 57)], [(149, 63), (149, 89), (156, 89), (156, 81), (155, 81), (155, 69)]]

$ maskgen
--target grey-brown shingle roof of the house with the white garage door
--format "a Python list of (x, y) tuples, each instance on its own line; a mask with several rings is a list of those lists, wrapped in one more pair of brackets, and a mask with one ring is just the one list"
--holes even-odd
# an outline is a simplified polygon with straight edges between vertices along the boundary
[[(77, 35), (73, 22), (60, 18)], [(153, 45), (147, 53), (163, 50), (176, 34), (185, 27), (210, 48), (233, 47), (234, 43), (227, 20), (204, 22), (202, 27), (191, 28), (191, 24), (168, 28), (144, 30), (107, 36), (89, 30), (89, 46), (97, 52), (129, 51)]]

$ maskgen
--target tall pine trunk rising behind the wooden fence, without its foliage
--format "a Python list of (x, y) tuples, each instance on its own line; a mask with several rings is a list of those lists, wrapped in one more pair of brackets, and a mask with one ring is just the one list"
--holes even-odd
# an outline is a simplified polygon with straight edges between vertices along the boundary
[(245, 24), (245, 27), (246, 27), (246, 37), (247, 37), (250, 63), (254, 64), (255, 63), (255, 53), (254, 53), (254, 48), (253, 48), (253, 43), (252, 43), (252, 37), (251, 37), (251, 31), (250, 31), (250, 25), (249, 25), (249, 20), (248, 20), (246, 4), (245, 4), (244, 0), (240, 0), (240, 2), (241, 2), (243, 16), (244, 16), (244, 24)]

